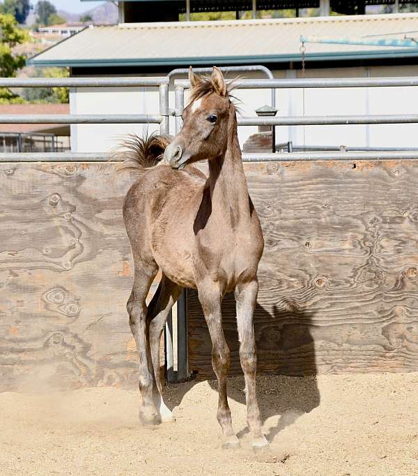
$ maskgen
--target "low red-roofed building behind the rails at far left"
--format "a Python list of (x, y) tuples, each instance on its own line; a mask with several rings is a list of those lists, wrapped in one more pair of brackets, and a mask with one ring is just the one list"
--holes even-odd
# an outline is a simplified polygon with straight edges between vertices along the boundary
[[(68, 114), (68, 104), (1, 104), (3, 114)], [(66, 124), (0, 124), (0, 152), (52, 152), (70, 149)]]

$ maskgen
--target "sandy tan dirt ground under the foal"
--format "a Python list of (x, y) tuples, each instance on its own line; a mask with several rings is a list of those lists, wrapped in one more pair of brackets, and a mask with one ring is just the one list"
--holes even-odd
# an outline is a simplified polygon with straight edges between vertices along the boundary
[(418, 475), (418, 373), (260, 377), (267, 451), (254, 453), (242, 378), (230, 380), (240, 449), (222, 449), (214, 382), (170, 385), (176, 422), (144, 428), (139, 393), (102, 387), (0, 394), (6, 475)]

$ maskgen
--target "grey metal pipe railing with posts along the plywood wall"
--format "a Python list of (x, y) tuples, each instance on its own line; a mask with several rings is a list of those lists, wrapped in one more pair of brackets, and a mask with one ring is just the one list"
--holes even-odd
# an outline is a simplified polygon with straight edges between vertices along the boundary
[[(115, 77), (115, 78), (0, 78), (0, 87), (158, 87), (160, 111), (155, 114), (69, 114), (2, 116), (3, 124), (160, 124), (160, 133), (168, 134), (169, 117), (175, 117), (175, 133), (180, 131), (185, 106), (185, 89), (188, 80), (174, 81), (174, 110), (169, 110), (169, 77)], [(238, 89), (304, 89), (304, 88), (369, 88), (418, 86), (418, 77), (339, 78), (339, 79), (264, 79), (237, 80)], [(390, 114), (364, 116), (313, 116), (313, 117), (239, 117), (240, 126), (311, 126), (338, 124), (412, 124), (418, 123), (417, 114)], [(105, 153), (9, 153), (0, 154), (0, 162), (96, 162), (105, 161)], [(412, 150), (367, 151), (299, 151), (289, 153), (242, 154), (242, 161), (379, 161), (385, 159), (417, 160), (418, 148)], [(177, 305), (178, 380), (189, 375), (187, 369), (187, 295), (183, 293)], [(167, 375), (175, 380), (173, 372), (172, 322), (166, 327)]]

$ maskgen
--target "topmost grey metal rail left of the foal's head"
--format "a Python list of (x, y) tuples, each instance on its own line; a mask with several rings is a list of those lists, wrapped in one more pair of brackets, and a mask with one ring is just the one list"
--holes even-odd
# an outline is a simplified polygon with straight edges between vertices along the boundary
[(0, 77), (0, 87), (134, 87), (169, 84), (164, 77)]

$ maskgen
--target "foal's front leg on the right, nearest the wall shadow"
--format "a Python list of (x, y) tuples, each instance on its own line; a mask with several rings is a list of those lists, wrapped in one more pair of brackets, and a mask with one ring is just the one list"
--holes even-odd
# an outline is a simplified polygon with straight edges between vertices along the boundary
[(256, 278), (246, 283), (239, 283), (235, 288), (240, 361), (245, 375), (247, 424), (251, 431), (252, 446), (254, 448), (268, 445), (268, 441), (261, 431), (261, 416), (256, 396), (257, 355), (253, 314), (256, 307), (257, 294), (258, 282)]

